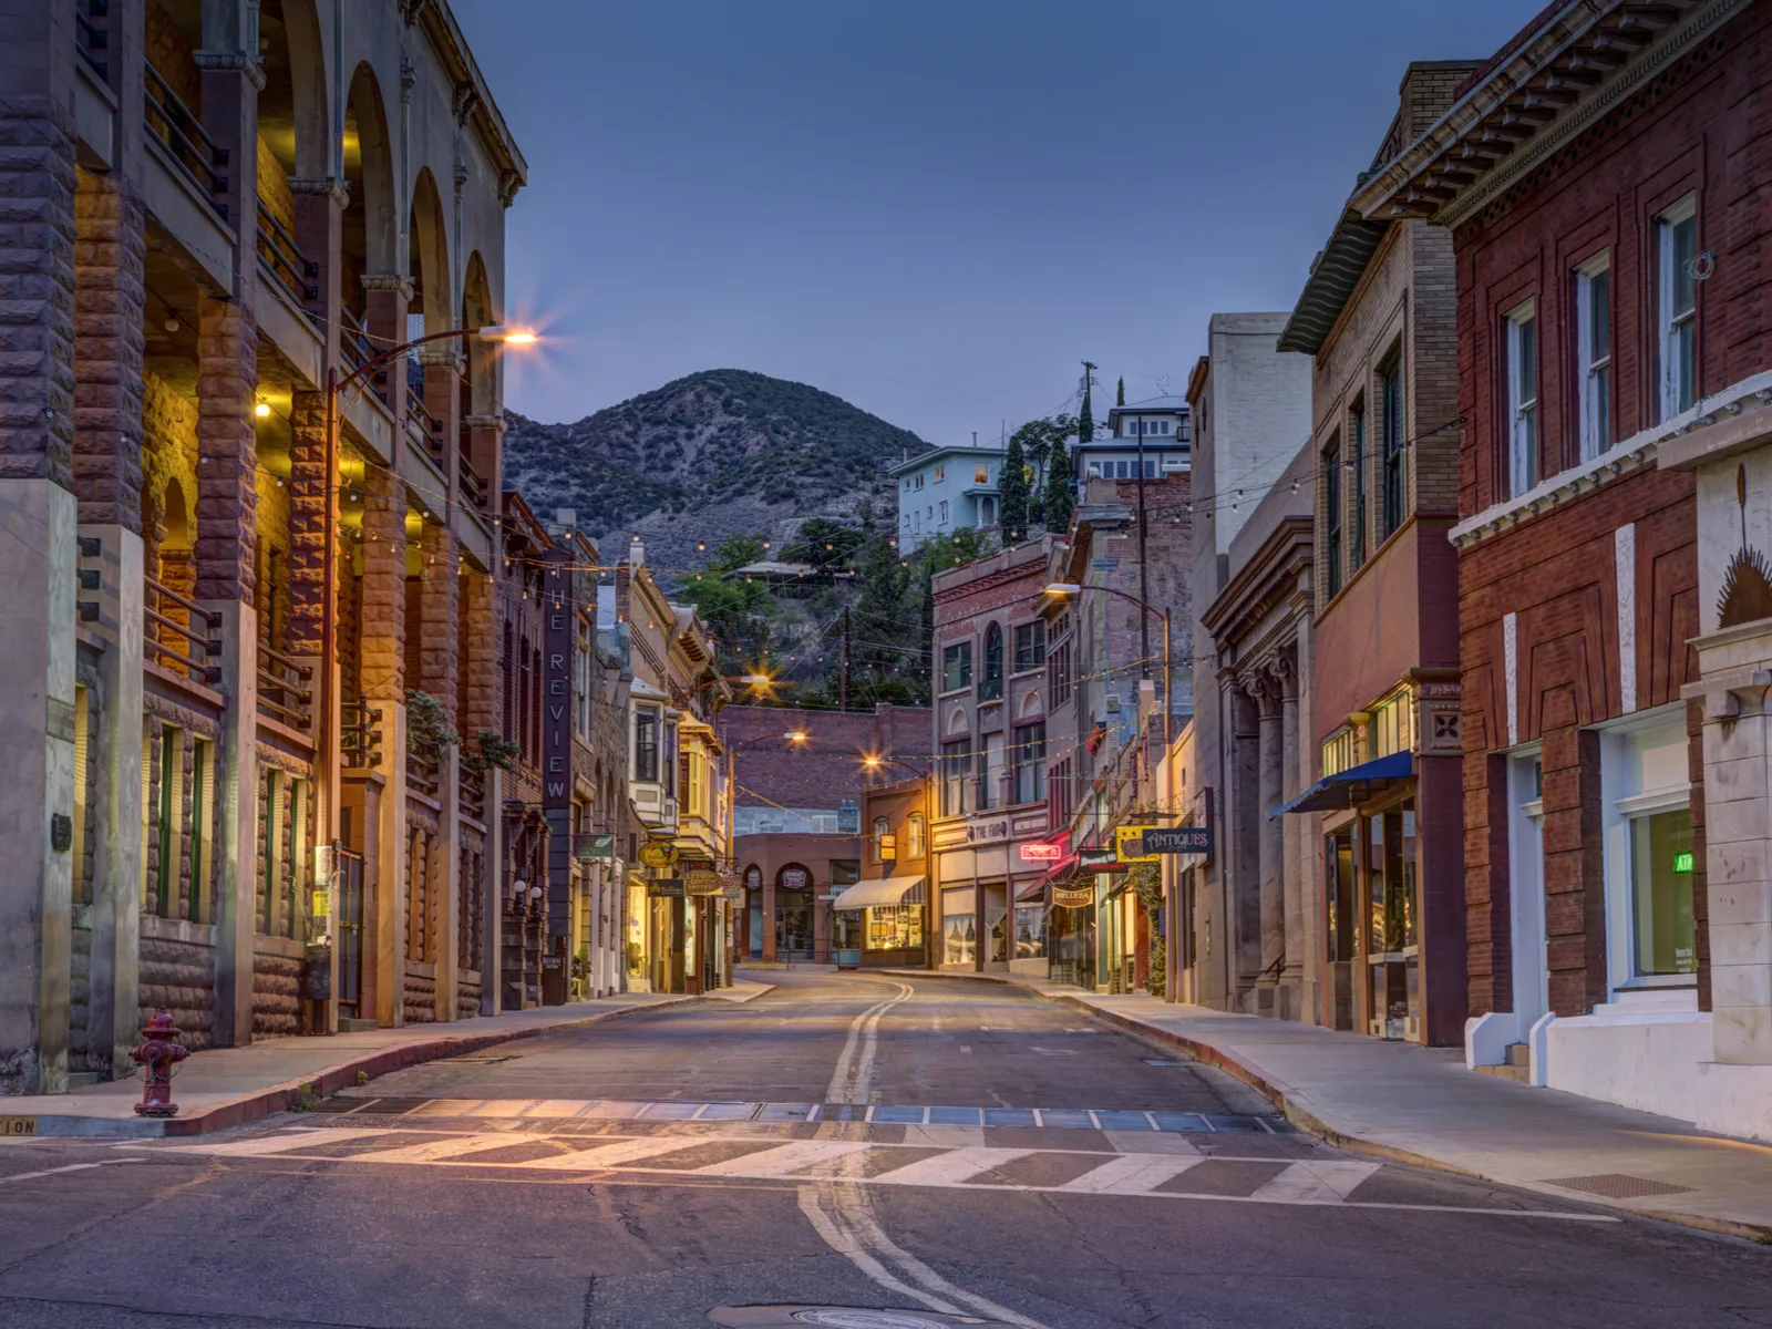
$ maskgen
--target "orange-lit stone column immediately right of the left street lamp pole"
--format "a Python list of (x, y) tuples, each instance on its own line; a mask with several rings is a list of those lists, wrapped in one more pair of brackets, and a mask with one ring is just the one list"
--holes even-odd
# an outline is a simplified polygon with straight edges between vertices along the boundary
[[(406, 489), (379, 466), (363, 475), (363, 698), (381, 711), (377, 852), (372, 881), (376, 1021), (406, 1022)], [(367, 888), (369, 890), (369, 888)], [(370, 913), (370, 900), (365, 900)]]

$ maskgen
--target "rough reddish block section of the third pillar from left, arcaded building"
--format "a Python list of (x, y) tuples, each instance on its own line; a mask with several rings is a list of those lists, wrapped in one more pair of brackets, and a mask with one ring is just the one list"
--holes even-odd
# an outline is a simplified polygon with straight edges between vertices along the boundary
[(197, 597), (253, 602), (259, 445), (257, 323), (229, 299), (197, 303)]

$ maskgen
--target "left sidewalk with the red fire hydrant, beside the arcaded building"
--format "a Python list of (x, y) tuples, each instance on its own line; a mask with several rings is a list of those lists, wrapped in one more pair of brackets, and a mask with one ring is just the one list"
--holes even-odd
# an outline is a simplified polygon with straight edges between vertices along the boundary
[(34, 1118), (32, 1129), (19, 1132), (37, 1136), (142, 1139), (223, 1131), (294, 1108), (305, 1093), (324, 1099), (349, 1084), (420, 1061), (475, 1053), (537, 1033), (601, 1024), (636, 1010), (686, 1001), (750, 1001), (769, 991), (771, 983), (739, 982), (705, 998), (626, 992), (454, 1024), (408, 1024), (400, 1030), (337, 1033), (330, 1038), (266, 1038), (246, 1047), (216, 1047), (193, 1053), (179, 1069), (172, 1081), (172, 1099), (179, 1104), (174, 1118), (136, 1116), (133, 1104), (142, 1097), (140, 1079), (117, 1079), (74, 1093), (0, 1097), (0, 1136), (7, 1134), (9, 1118)]

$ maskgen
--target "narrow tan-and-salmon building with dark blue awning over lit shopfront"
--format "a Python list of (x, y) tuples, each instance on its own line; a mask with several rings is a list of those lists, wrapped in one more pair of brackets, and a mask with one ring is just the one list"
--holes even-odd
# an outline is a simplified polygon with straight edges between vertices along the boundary
[[(1474, 62), (1416, 62), (1372, 168)], [(1299, 780), (1281, 828), (1324, 865), (1301, 1019), (1458, 1044), (1465, 1017), (1458, 737), (1458, 377), (1451, 236), (1336, 222), (1279, 337), (1313, 356), (1315, 624)], [(1317, 911), (1311, 911), (1313, 914)], [(1322, 950), (1322, 953), (1317, 953)]]

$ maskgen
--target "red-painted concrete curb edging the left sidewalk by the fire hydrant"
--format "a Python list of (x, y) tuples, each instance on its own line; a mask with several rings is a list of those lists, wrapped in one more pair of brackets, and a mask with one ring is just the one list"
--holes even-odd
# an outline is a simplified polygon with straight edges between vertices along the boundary
[[(755, 996), (762, 996), (757, 992)], [(439, 1061), (450, 1056), (461, 1056), (464, 1053), (478, 1053), (486, 1047), (498, 1047), (500, 1044), (516, 1042), (517, 1038), (533, 1038), (544, 1033), (562, 1033), (567, 1030), (583, 1030), (592, 1024), (604, 1024), (608, 1021), (624, 1019), (627, 1015), (641, 1015), (650, 1010), (672, 1010), (688, 1003), (705, 1003), (716, 998), (673, 998), (670, 1001), (650, 1001), (643, 1006), (626, 1006), (622, 1010), (604, 1010), (595, 1015), (583, 1015), (579, 1019), (567, 1019), (556, 1024), (535, 1024), (521, 1030), (487, 1030), (484, 1033), (466, 1033), (466, 1035), (441, 1035), (438, 1038), (424, 1038), (420, 1042), (399, 1044), (395, 1047), (377, 1047), (360, 1056), (347, 1058), (344, 1061), (335, 1061), (330, 1067), (321, 1067), (314, 1074), (299, 1076), (298, 1079), (285, 1079), (280, 1084), (273, 1084), (264, 1090), (253, 1090), (243, 1093), (237, 1099), (229, 1099), (227, 1102), (218, 1102), (190, 1116), (172, 1116), (165, 1120), (154, 1120), (145, 1116), (50, 1116), (37, 1115), (37, 1136), (73, 1136), (73, 1138), (97, 1138), (97, 1139), (158, 1139), (170, 1136), (200, 1136), (211, 1131), (227, 1131), (236, 1125), (245, 1125), (246, 1122), (255, 1122), (260, 1116), (269, 1116), (273, 1113), (284, 1113), (291, 1108), (301, 1104), (303, 1095), (314, 1099), (324, 1099), (330, 1093), (337, 1093), (342, 1088), (353, 1088), (358, 1083), (358, 1074), (369, 1079), (377, 1079), (392, 1070), (404, 1070), (408, 1067), (424, 1065), (425, 1061)]]

